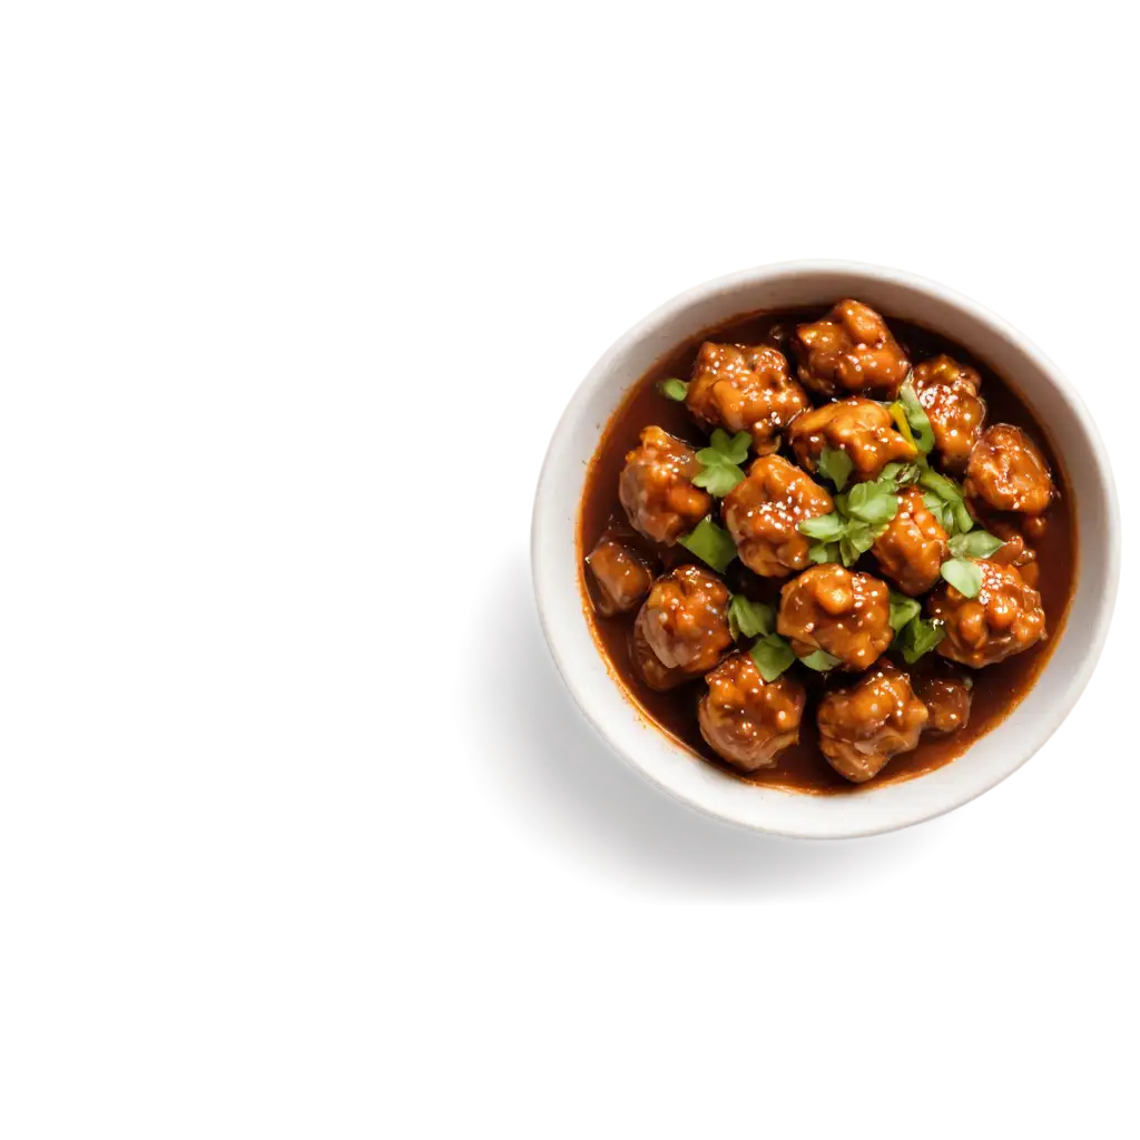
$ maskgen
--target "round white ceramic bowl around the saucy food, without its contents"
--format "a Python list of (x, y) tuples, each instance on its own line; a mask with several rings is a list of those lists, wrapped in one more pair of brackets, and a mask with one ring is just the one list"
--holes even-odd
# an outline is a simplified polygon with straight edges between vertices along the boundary
[[(610, 674), (584, 609), (578, 513), (589, 461), (629, 388), (667, 352), (732, 317), (855, 296), (958, 341), (1009, 381), (1051, 435), (1076, 499), (1080, 553), (1068, 619), (1033, 689), (958, 759), (926, 775), (820, 796), (720, 771), (648, 720)], [(1085, 678), (1109, 614), (1115, 475), (1109, 438), (1060, 357), (1008, 312), (961, 285), (885, 262), (767, 260), (718, 270), (636, 314), (579, 372), (546, 440), (529, 503), (531, 581), (555, 666), (598, 735), (635, 772), (724, 823), (797, 839), (901, 831), (969, 803), (1045, 740)], [(1074, 757), (1074, 763), (1078, 763)]]

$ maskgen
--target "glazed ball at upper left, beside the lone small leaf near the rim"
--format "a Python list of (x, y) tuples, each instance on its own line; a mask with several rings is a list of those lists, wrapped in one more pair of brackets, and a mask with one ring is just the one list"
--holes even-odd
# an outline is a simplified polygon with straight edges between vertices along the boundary
[(685, 404), (706, 430), (749, 432), (757, 455), (776, 450), (780, 433), (812, 406), (779, 349), (711, 341), (697, 353)]

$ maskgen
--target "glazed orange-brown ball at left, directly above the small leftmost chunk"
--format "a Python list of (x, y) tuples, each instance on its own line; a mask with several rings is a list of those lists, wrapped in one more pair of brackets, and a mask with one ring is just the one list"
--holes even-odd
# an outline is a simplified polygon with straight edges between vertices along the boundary
[(692, 530), (712, 508), (712, 497), (693, 486), (701, 470), (687, 443), (660, 427), (643, 429), (618, 480), (618, 498), (634, 530), (666, 546)]

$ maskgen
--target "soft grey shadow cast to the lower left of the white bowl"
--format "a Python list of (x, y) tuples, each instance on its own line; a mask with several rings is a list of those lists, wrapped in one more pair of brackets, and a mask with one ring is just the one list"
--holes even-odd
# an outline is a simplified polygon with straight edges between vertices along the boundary
[(950, 819), (876, 839), (797, 842), (716, 823), (651, 787), (563, 686), (521, 537), (496, 551), (472, 588), (445, 700), (491, 825), (520, 854), (629, 906), (889, 903), (956, 828)]

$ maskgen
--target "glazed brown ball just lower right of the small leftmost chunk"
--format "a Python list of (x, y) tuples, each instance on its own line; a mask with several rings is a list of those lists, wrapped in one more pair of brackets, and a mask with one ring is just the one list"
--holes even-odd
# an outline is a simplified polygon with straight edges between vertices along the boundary
[(708, 673), (732, 644), (728, 587), (698, 565), (653, 583), (634, 624), (634, 663), (651, 689)]

